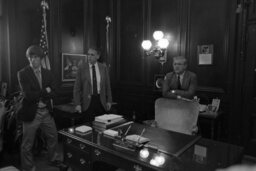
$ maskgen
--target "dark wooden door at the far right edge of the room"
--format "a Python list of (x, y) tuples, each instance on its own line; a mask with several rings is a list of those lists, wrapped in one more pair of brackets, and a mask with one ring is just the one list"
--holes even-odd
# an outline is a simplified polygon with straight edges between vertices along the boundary
[(242, 132), (246, 152), (256, 156), (256, 23), (247, 25), (243, 84)]

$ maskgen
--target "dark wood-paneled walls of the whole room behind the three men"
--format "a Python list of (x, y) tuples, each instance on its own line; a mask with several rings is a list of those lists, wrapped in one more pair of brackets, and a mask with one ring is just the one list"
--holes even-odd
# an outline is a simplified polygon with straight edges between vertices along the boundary
[[(40, 0), (4, 0), (3, 65), (12, 90), (17, 86), (17, 70), (27, 64), (25, 50), (37, 43), (40, 36)], [(241, 81), (233, 74), (239, 67), (234, 52), (239, 47), (236, 37), (237, 14), (233, 0), (49, 0), (49, 43), (52, 70), (57, 77), (63, 97), (72, 99), (73, 82), (61, 80), (61, 53), (86, 53), (91, 44), (106, 51), (106, 21), (110, 16), (110, 75), (114, 101), (120, 112), (137, 115), (138, 120), (154, 118), (154, 100), (161, 96), (155, 90), (155, 74), (172, 70), (172, 58), (185, 55), (189, 70), (198, 75), (198, 94), (210, 101), (221, 98), (222, 108), (230, 112), (234, 92)], [(66, 6), (63, 6), (65, 5)], [(69, 5), (67, 5), (69, 4)], [(80, 5), (81, 4), (81, 5)], [(170, 34), (167, 62), (161, 66), (145, 56), (141, 42), (152, 39), (161, 29)], [(71, 40), (76, 50), (68, 46)], [(197, 46), (214, 45), (213, 65), (199, 66)], [(104, 54), (103, 53), (103, 54)], [(102, 57), (106, 61), (106, 54)], [(3, 70), (2, 70), (3, 71)], [(207, 101), (206, 100), (206, 101)], [(230, 116), (231, 117), (231, 116)], [(239, 119), (236, 118), (236, 121)]]

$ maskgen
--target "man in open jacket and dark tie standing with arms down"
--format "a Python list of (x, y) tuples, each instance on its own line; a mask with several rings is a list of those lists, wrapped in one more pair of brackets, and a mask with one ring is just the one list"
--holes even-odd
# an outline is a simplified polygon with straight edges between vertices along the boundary
[(88, 63), (79, 66), (74, 85), (74, 103), (82, 113), (82, 122), (93, 121), (95, 116), (110, 110), (112, 94), (108, 68), (99, 63), (100, 51), (89, 48)]

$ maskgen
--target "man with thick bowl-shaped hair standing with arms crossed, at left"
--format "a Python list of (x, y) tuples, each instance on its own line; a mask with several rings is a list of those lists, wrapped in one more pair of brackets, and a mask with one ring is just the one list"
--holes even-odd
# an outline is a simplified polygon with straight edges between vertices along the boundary
[(49, 70), (41, 67), (43, 50), (37, 45), (26, 51), (29, 65), (18, 72), (18, 81), (24, 94), (22, 108), (18, 119), (22, 121), (23, 137), (21, 144), (22, 170), (34, 171), (32, 147), (37, 129), (41, 129), (47, 138), (49, 162), (57, 166), (60, 163), (56, 152), (58, 135), (52, 115), (52, 98), (55, 96), (56, 84)]

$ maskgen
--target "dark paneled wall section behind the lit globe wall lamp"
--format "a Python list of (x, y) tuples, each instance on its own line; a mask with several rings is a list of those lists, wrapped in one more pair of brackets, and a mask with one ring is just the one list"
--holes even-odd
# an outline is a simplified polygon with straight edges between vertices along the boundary
[[(172, 57), (185, 55), (189, 70), (198, 75), (198, 95), (222, 100), (228, 112), (232, 77), (232, 38), (235, 36), (235, 12), (231, 1), (114, 1), (117, 52), (116, 100), (123, 108), (136, 110), (141, 119), (154, 116), (154, 100), (161, 96), (154, 91), (154, 75), (172, 70)], [(133, 10), (132, 10), (133, 9)], [(136, 10), (135, 10), (136, 9)], [(132, 12), (130, 12), (132, 10)], [(163, 65), (141, 49), (143, 39), (152, 39), (155, 30), (172, 37), (167, 62)], [(213, 65), (198, 65), (198, 45), (214, 45)], [(130, 104), (127, 105), (127, 104)]]

